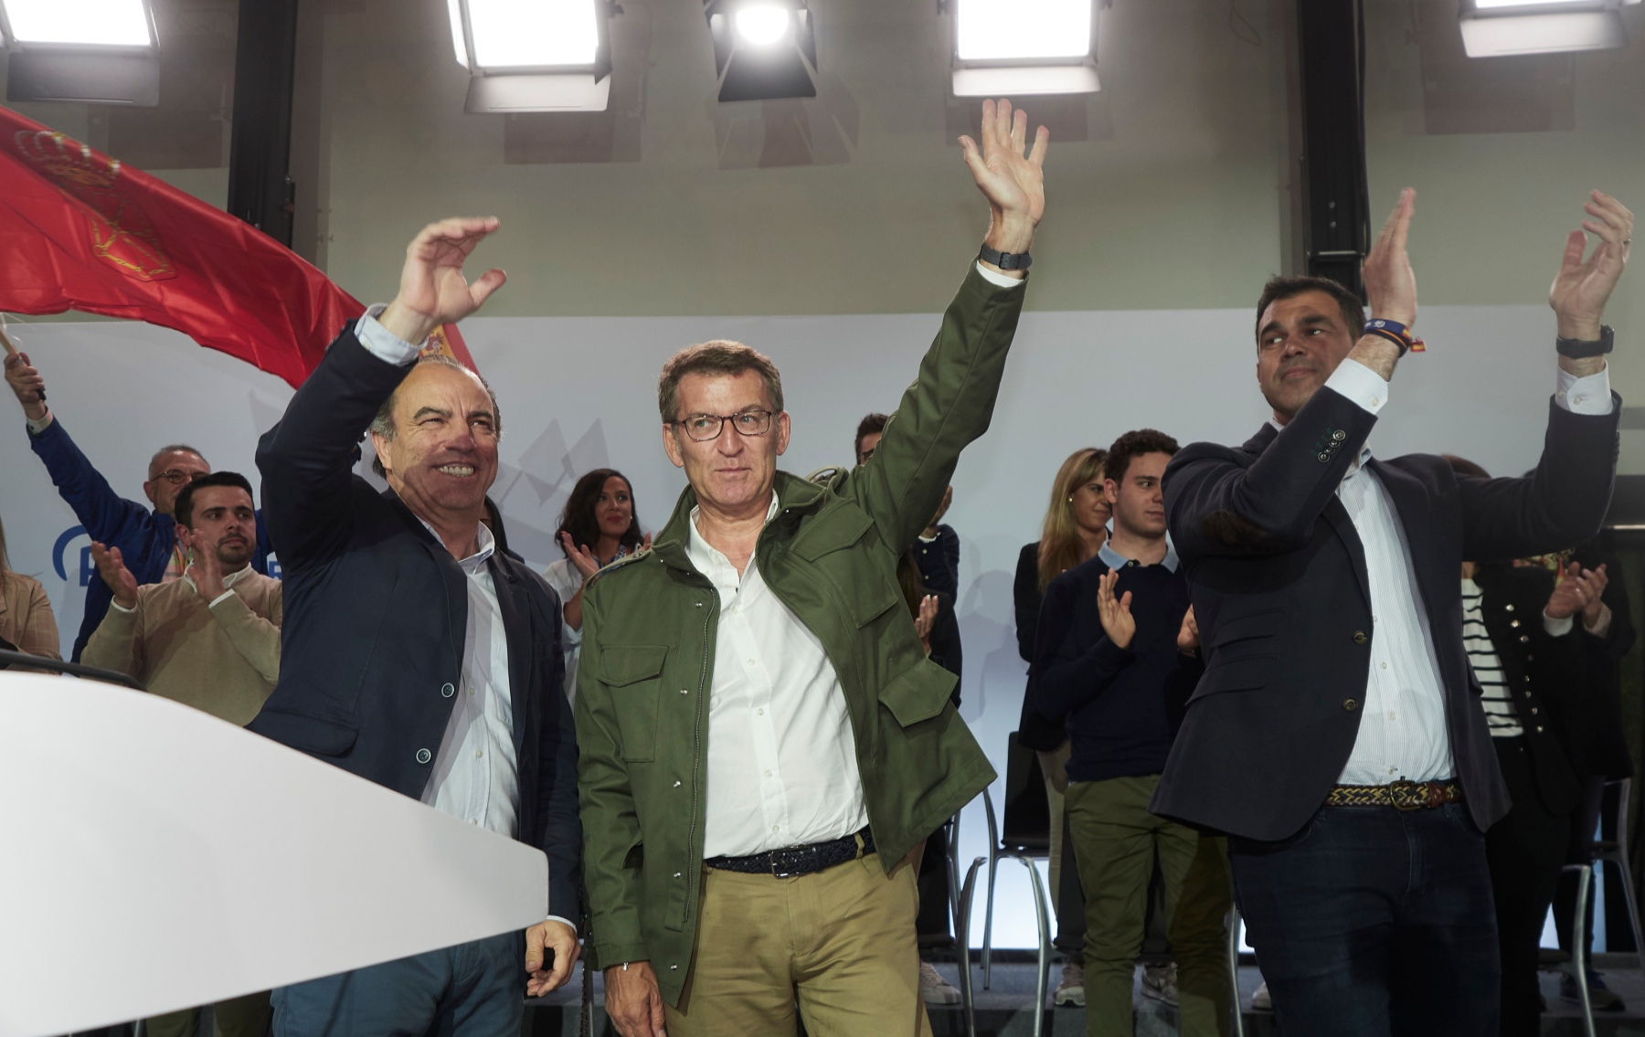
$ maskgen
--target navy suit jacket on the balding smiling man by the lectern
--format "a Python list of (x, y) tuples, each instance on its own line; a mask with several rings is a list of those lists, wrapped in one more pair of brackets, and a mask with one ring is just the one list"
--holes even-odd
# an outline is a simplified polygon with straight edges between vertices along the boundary
[[(355, 444), (410, 370), (373, 357), (350, 324), (258, 442), (285, 623), (280, 682), (250, 728), (416, 799), (461, 680), (467, 577), (393, 491), (352, 470)], [(517, 838), (548, 855), (549, 914), (577, 920), (582, 825), (559, 600), (500, 551), (489, 565), (508, 638)]]

